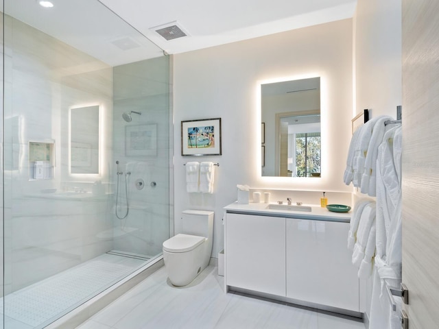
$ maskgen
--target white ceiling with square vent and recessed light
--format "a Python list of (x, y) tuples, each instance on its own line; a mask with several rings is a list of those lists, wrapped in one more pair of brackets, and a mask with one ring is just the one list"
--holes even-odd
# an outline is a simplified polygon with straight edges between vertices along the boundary
[[(47, 9), (36, 0), (5, 0), (5, 13), (115, 66), (161, 56), (162, 49), (182, 53), (351, 18), (357, 0), (52, 2)], [(152, 30), (175, 21), (188, 36), (167, 41)]]

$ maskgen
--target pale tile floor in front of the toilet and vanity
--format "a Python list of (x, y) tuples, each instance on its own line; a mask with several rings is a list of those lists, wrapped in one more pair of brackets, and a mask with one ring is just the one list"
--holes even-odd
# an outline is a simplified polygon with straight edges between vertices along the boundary
[(353, 319), (224, 293), (209, 265), (186, 287), (173, 287), (164, 268), (88, 319), (79, 329), (364, 329)]

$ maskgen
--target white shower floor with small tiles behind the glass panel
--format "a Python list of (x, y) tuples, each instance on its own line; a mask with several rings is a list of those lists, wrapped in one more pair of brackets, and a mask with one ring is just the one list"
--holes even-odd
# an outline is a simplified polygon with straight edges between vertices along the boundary
[(5, 328), (45, 328), (154, 258), (112, 250), (5, 295)]

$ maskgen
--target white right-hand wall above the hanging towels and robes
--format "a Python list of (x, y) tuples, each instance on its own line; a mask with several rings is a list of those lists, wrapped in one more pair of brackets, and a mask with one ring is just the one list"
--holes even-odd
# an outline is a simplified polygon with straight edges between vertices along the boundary
[[(372, 117), (382, 114), (396, 117), (396, 106), (402, 104), (401, 1), (358, 0), (353, 21), (356, 85), (353, 114), (370, 108)], [(364, 283), (366, 296), (361, 303), (369, 314), (371, 282)]]

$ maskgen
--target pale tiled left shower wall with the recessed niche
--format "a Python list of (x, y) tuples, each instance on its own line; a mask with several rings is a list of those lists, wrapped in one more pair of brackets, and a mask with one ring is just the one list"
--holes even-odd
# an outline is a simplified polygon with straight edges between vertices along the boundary
[[(99, 175), (69, 175), (69, 109), (99, 105)], [(110, 182), (112, 67), (5, 16), (5, 293), (109, 249), (109, 197), (62, 197)], [(54, 178), (29, 180), (29, 141), (55, 142)], [(106, 184), (110, 191), (110, 184)], [(45, 193), (56, 188), (56, 193)], [(53, 191), (53, 190), (52, 190)], [(88, 196), (88, 195), (87, 195)]]

